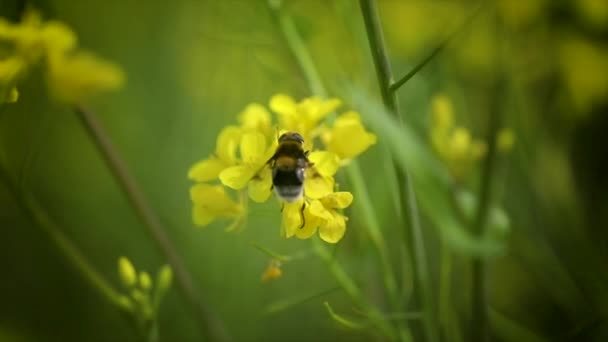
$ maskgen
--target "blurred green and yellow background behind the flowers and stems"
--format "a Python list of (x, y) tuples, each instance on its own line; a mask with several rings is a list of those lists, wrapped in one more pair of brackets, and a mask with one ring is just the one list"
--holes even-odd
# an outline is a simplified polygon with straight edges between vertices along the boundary
[[(490, 306), (508, 318), (493, 323), (493, 338), (608, 339), (606, 2), (488, 1), (468, 24), (463, 22), (477, 2), (378, 3), (396, 75), (457, 32), (398, 92), (417, 142), (431, 151), (431, 103), (437, 94), (452, 99), (455, 120), (476, 137), (486, 134), (488, 117), (495, 115), (490, 102), (498, 98), (502, 124), (514, 133), (515, 145), (501, 156), (495, 182), (495, 201), (510, 224), (505, 251), (488, 261)], [(0, 0), (0, 16), (16, 18), (21, 6)], [(235, 341), (373, 338), (329, 317), (325, 301), (340, 312), (356, 308), (310, 253), (309, 241), (280, 237), (278, 205), (251, 205), (246, 228), (239, 232), (224, 232), (226, 221), (202, 229), (191, 221), (187, 171), (212, 153), (221, 128), (247, 104), (267, 104), (273, 94), (310, 96), (266, 1), (37, 0), (28, 6), (65, 22), (82, 47), (125, 70), (123, 90), (88, 105), (170, 227), (196, 290)], [(357, 1), (284, 1), (283, 10), (294, 19), (332, 96), (348, 97), (354, 85), (379, 99)], [(500, 93), (492, 83), (497, 74), (504, 83)], [(383, 132), (375, 133), (379, 142), (360, 164), (383, 232), (397, 251), (400, 240), (392, 237), (400, 209), (393, 199), (400, 189), (384, 179), (390, 157)], [(0, 144), (19, 183), (117, 288), (118, 257), (150, 272), (165, 263), (83, 127), (69, 108), (49, 99), (39, 74), (24, 81), (20, 100), (0, 113)], [(480, 165), (465, 182), (474, 193)], [(345, 179), (341, 188), (349, 188)], [(373, 248), (358, 213), (347, 214), (348, 231), (334, 257), (381, 302)], [(428, 219), (437, 213), (423, 214), (437, 292), (442, 237)], [(137, 340), (121, 313), (19, 210), (4, 185), (0, 228), (0, 341)], [(252, 242), (309, 257), (290, 262), (280, 279), (263, 283), (269, 257)], [(397, 252), (392, 257), (395, 265), (405, 263)], [(453, 252), (453, 310), (463, 322), (471, 291), (468, 260), (466, 252)], [(281, 301), (297, 304), (267, 312)], [(160, 310), (161, 340), (200, 340), (197, 324), (173, 286)], [(510, 324), (534, 334), (500, 333), (522, 331), (505, 329)]]

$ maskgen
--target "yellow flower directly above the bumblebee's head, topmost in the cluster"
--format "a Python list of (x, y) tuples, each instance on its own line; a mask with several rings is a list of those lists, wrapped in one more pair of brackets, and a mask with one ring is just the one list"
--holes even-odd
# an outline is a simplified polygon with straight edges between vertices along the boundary
[(338, 99), (323, 100), (319, 97), (309, 97), (296, 103), (285, 94), (277, 94), (270, 99), (270, 109), (277, 114), (279, 126), (287, 131), (300, 133), (304, 137), (306, 148), (312, 147), (314, 129), (319, 122), (341, 104)]

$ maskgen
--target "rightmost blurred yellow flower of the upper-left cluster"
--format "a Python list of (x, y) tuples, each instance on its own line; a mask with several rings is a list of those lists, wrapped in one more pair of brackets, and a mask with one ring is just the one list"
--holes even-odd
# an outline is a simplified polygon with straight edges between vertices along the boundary
[(88, 52), (49, 55), (48, 85), (59, 101), (78, 103), (93, 94), (123, 86), (125, 76), (113, 63)]

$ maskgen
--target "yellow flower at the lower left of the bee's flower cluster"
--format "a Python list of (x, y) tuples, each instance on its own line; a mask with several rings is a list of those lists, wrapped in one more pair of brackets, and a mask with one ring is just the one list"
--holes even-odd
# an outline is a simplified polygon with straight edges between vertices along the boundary
[(196, 225), (206, 226), (216, 218), (237, 218), (244, 209), (234, 202), (221, 185), (196, 184), (190, 188), (192, 219)]

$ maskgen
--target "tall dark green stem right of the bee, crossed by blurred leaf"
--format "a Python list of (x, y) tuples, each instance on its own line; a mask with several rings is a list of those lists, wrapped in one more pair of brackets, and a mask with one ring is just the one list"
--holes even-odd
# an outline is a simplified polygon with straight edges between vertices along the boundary
[[(397, 118), (401, 119), (396, 94), (394, 92), (397, 88), (391, 90), (393, 74), (388, 59), (387, 49), (384, 44), (376, 2), (373, 0), (360, 0), (359, 4), (365, 22), (367, 37), (372, 52), (374, 66), (376, 68), (376, 74), (378, 76), (378, 84), (384, 106), (389, 111), (393, 112)], [(406, 237), (405, 240), (406, 244), (410, 247), (411, 253), (413, 253), (413, 273), (416, 280), (416, 288), (421, 295), (421, 312), (424, 314), (423, 328), (427, 340), (438, 341), (436, 332), (438, 325), (434, 314), (434, 298), (432, 294), (432, 285), (430, 283), (430, 272), (427, 264), (426, 250), (420, 225), (420, 213), (416, 204), (414, 187), (407, 172), (397, 170), (397, 176), (399, 188), (403, 190), (402, 203), (406, 206), (405, 211), (407, 212), (409, 231), (407, 232), (408, 237)]]

